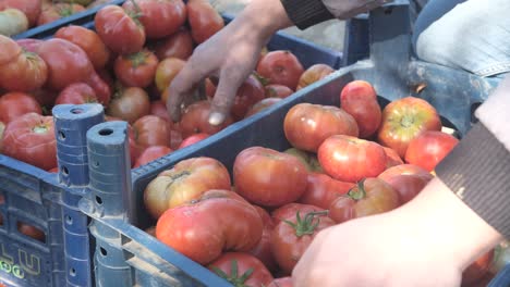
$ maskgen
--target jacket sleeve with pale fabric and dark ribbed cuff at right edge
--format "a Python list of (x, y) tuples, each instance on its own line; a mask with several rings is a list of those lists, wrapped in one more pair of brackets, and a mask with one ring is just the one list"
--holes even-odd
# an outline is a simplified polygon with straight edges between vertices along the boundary
[(510, 77), (476, 110), (479, 122), (436, 166), (474, 212), (510, 238)]

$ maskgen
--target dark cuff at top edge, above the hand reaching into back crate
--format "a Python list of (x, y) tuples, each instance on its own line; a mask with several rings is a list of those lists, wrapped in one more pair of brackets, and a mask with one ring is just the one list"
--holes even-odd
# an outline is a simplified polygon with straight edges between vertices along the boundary
[(300, 29), (335, 17), (320, 0), (281, 0), (281, 3), (289, 18)]

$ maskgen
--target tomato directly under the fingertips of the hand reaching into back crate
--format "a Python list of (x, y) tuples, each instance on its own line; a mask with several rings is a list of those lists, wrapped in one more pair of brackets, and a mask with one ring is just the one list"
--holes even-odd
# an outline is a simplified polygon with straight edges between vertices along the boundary
[(232, 116), (228, 115), (221, 125), (209, 124), (210, 102), (202, 100), (190, 104), (181, 117), (182, 137), (186, 138), (194, 134), (214, 135), (233, 123)]

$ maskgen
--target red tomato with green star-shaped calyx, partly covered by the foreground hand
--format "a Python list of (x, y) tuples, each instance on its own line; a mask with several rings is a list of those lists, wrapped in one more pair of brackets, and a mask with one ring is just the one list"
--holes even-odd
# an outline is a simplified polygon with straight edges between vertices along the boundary
[(336, 223), (327, 211), (296, 213), (280, 222), (272, 230), (271, 250), (283, 274), (290, 275), (298, 261), (323, 229)]

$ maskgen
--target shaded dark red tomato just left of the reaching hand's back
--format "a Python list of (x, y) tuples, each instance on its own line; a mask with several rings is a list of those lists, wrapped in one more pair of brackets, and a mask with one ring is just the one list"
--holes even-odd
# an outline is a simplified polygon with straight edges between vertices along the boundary
[(193, 38), (186, 28), (181, 27), (174, 34), (156, 42), (154, 51), (160, 61), (167, 58), (185, 61), (193, 53)]

